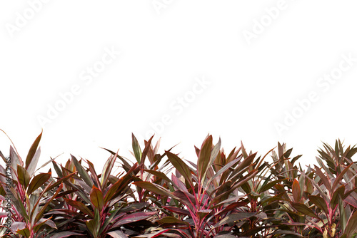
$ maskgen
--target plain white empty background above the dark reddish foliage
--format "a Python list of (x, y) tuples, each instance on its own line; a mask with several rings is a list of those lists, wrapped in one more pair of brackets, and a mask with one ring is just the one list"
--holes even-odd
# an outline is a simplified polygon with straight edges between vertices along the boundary
[[(1, 1), (0, 128), (23, 158), (43, 128), (40, 164), (61, 153), (58, 161), (65, 162), (71, 153), (101, 170), (109, 153), (100, 147), (131, 157), (131, 133), (147, 139), (151, 125), (161, 152), (178, 144), (174, 152), (188, 160), (196, 160), (193, 145), (210, 133), (226, 152), (242, 140), (264, 155), (280, 141), (294, 148), (292, 155), (303, 154), (303, 165), (312, 164), (322, 141), (357, 143), (356, 6), (353, 0)], [(84, 80), (86, 69), (113, 49), (120, 55), (93, 81)], [(341, 73), (341, 62), (348, 66), (343, 55), (354, 58), (348, 70), (333, 83), (319, 81)], [(198, 88), (202, 78), (208, 83)], [(39, 118), (49, 119), (49, 108), (73, 86), (80, 93), (41, 125)], [(298, 109), (297, 100), (306, 102), (311, 92), (315, 101)], [(185, 96), (186, 107), (178, 106)], [(284, 125), (293, 112), (298, 117), (278, 133), (276, 123)], [(4, 155), (9, 145), (1, 134)]]

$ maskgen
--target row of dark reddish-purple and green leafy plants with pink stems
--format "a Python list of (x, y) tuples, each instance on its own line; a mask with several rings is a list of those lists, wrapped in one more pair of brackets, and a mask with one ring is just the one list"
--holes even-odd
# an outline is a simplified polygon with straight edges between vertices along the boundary
[[(92, 162), (55, 159), (38, 167), (42, 133), (23, 160), (10, 146), (0, 166), (1, 237), (355, 237), (355, 146), (323, 144), (301, 167), (278, 143), (264, 156), (243, 144), (226, 153), (208, 135), (197, 159), (132, 136), (135, 162), (108, 149)], [(46, 166), (48, 172), (38, 172)], [(119, 173), (114, 169), (120, 167)], [(56, 175), (52, 174), (52, 170)]]

